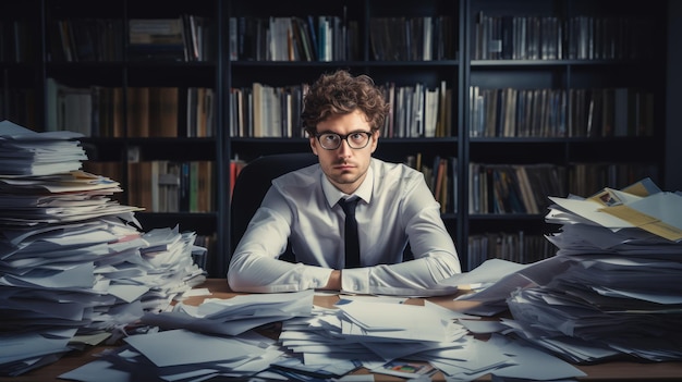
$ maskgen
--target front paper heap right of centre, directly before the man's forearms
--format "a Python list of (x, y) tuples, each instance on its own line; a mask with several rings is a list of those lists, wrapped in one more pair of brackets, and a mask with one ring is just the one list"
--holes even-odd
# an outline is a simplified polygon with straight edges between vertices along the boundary
[[(425, 301), (400, 304), (385, 297), (349, 297), (338, 309), (316, 308), (310, 318), (283, 322), (280, 342), (294, 357), (272, 365), (271, 371), (292, 379), (301, 375), (338, 378), (358, 367), (373, 372), (418, 378), (441, 371), (450, 381), (471, 381), (485, 374), (556, 380), (584, 375), (567, 362), (508, 340), (480, 341), (470, 325), (497, 332), (502, 325), (461, 315)], [(543, 358), (520, 365), (520, 359)], [(259, 377), (268, 374), (258, 374)]]

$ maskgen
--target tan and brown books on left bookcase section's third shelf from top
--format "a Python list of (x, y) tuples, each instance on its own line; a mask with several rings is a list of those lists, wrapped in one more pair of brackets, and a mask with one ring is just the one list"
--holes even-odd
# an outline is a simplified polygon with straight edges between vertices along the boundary
[(211, 161), (129, 163), (129, 204), (148, 212), (212, 212), (214, 171)]

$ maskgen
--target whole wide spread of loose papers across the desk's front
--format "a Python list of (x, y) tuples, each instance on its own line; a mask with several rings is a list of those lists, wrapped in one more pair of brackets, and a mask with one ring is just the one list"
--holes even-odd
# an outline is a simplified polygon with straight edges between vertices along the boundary
[[(143, 318), (166, 331), (127, 337), (129, 345), (60, 377), (333, 381), (360, 367), (404, 378), (428, 378), (440, 370), (448, 381), (489, 373), (535, 380), (584, 375), (557, 357), (500, 335), (490, 341), (466, 335), (507, 329), (499, 322), (428, 301), (403, 301), (352, 296), (327, 309), (313, 307), (313, 292), (305, 291), (211, 298), (196, 307), (178, 304), (172, 312)], [(254, 331), (280, 320), (279, 342)]]

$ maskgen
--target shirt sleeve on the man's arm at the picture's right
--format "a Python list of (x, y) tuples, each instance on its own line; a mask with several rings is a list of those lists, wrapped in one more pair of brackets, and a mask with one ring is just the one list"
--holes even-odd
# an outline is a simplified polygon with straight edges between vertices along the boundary
[[(423, 178), (405, 188), (400, 219), (414, 260), (341, 272), (342, 292), (355, 294), (434, 296), (452, 293), (440, 281), (461, 272), (460, 260), (440, 217), (440, 206)], [(401, 225), (403, 225), (401, 224)]]

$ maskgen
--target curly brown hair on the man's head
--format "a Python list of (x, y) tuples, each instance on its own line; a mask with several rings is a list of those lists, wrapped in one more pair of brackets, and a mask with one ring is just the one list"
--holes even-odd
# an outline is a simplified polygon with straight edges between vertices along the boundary
[(353, 76), (343, 70), (322, 74), (310, 85), (303, 99), (303, 127), (309, 136), (314, 136), (320, 121), (356, 109), (365, 113), (374, 132), (383, 126), (389, 104), (381, 89), (367, 75)]

